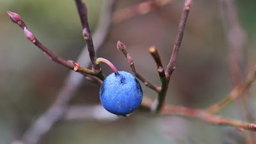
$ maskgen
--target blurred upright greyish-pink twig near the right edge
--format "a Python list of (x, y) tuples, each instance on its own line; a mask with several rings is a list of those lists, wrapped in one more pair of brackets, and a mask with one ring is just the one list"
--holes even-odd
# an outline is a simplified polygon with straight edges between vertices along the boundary
[[(223, 13), (223, 26), (226, 29), (228, 44), (231, 49), (230, 52), (230, 72), (232, 76), (233, 86), (238, 86), (244, 83), (246, 73), (246, 61), (245, 61), (245, 42), (246, 34), (243, 27), (239, 24), (237, 16), (236, 6), (234, 0), (220, 0), (221, 11)], [(252, 104), (250, 102), (250, 95), (243, 93), (237, 99), (237, 106), (239, 106), (239, 112), (241, 117), (248, 122), (255, 122), (255, 118), (252, 115)], [(256, 143), (254, 134), (246, 136), (249, 143)]]

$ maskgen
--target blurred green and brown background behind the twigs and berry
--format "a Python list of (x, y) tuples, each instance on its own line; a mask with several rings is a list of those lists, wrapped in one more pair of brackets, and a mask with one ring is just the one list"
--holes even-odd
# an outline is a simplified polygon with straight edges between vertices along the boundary
[[(90, 28), (94, 31), (103, 1), (84, 2), (88, 6)], [(141, 2), (118, 1), (116, 10)], [(236, 1), (247, 36), (247, 73), (256, 62), (255, 4), (253, 0)], [(156, 64), (148, 48), (157, 47), (166, 68), (183, 5), (184, 1), (173, 0), (145, 15), (113, 23), (97, 56), (107, 58), (118, 70), (131, 72), (124, 56), (116, 49), (116, 42), (120, 40), (126, 45), (138, 72), (159, 85)], [(77, 60), (85, 44), (74, 1), (0, 1), (0, 143), (10, 143), (22, 136), (31, 122), (51, 106), (70, 72), (47, 59), (44, 52), (29, 42), (6, 11), (19, 13), (36, 38), (65, 60)], [(232, 90), (229, 56), (219, 1), (193, 1), (167, 102), (207, 108), (221, 100)], [(101, 67), (104, 74), (111, 74), (107, 65)], [(100, 104), (99, 86), (86, 80), (81, 84), (70, 104)], [(156, 98), (154, 91), (144, 84), (141, 86), (144, 95)], [(250, 95), (256, 95), (255, 84), (250, 88)], [(252, 102), (255, 104), (255, 97)], [(241, 120), (236, 103), (227, 106), (220, 115)], [(136, 111), (129, 118), (115, 121), (61, 120), (39, 143), (232, 143), (230, 140), (243, 143), (241, 135), (242, 132), (228, 126)]]

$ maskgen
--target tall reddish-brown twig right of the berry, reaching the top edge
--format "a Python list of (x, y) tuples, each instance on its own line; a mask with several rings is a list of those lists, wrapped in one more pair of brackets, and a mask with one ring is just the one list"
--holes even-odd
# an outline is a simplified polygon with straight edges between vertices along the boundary
[(172, 51), (172, 57), (170, 59), (170, 62), (168, 64), (166, 70), (165, 70), (165, 75), (166, 75), (168, 81), (170, 80), (170, 77), (172, 76), (173, 70), (175, 70), (176, 60), (177, 60), (177, 56), (179, 53), (180, 44), (181, 44), (181, 41), (183, 38), (186, 22), (188, 19), (191, 2), (192, 2), (192, 0), (186, 0), (186, 2), (184, 4), (183, 12), (182, 12), (181, 19), (180, 19), (179, 29), (178, 29), (178, 33), (177, 33), (177, 38), (176, 38), (175, 45), (174, 45), (173, 51)]

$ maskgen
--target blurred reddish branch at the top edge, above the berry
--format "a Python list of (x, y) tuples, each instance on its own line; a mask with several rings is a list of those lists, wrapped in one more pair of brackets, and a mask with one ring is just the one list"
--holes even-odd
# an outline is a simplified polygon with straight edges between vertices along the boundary
[(118, 10), (114, 13), (112, 22), (114, 24), (123, 22), (124, 20), (131, 19), (137, 15), (145, 15), (149, 12), (156, 10), (156, 8), (161, 6), (166, 6), (170, 4), (173, 0), (149, 0), (134, 6), (129, 6), (122, 10)]

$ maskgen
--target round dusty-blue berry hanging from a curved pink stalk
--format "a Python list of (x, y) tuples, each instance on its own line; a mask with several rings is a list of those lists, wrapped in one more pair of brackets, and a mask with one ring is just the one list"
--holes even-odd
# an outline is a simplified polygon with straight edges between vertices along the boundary
[(143, 97), (140, 83), (129, 72), (110, 74), (100, 86), (102, 106), (115, 115), (127, 115), (139, 108)]

